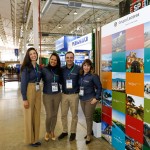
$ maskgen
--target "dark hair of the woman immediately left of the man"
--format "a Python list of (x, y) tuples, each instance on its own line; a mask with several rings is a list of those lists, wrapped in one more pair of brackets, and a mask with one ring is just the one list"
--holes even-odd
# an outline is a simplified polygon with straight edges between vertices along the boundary
[[(52, 56), (55, 56), (56, 59), (57, 59), (57, 65), (56, 65), (55, 67), (51, 66), (51, 64), (50, 64), (50, 59), (51, 59)], [(59, 55), (58, 55), (57, 53), (54, 52), (54, 53), (51, 54), (51, 56), (50, 56), (50, 58), (49, 58), (49, 62), (48, 62), (47, 67), (48, 67), (49, 69), (56, 68), (56, 69), (57, 69), (57, 73), (60, 73), (60, 70), (61, 70), (61, 63), (60, 63)]]

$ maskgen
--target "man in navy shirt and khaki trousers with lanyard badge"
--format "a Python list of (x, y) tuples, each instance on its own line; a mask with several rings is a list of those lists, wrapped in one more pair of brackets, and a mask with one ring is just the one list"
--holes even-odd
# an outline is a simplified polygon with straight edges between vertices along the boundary
[(63, 132), (58, 139), (63, 139), (68, 135), (68, 111), (70, 108), (72, 121), (70, 129), (70, 141), (76, 138), (76, 128), (78, 122), (79, 103), (79, 70), (80, 67), (74, 64), (74, 53), (65, 54), (66, 65), (62, 67), (62, 100), (61, 100), (61, 121)]

